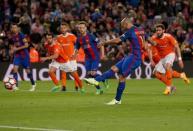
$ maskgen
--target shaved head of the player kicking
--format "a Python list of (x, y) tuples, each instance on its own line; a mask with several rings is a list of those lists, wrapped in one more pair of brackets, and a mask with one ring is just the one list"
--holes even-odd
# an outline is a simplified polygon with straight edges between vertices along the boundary
[(133, 17), (127, 16), (121, 21), (121, 29), (126, 30), (131, 26), (133, 26)]

